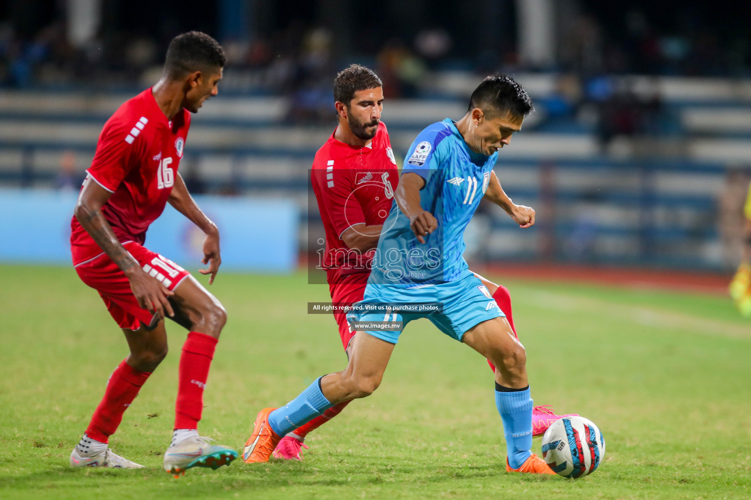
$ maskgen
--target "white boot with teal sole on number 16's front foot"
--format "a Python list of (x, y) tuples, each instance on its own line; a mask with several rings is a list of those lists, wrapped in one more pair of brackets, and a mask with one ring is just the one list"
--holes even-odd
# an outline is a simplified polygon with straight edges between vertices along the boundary
[(173, 443), (164, 452), (164, 470), (179, 478), (192, 467), (219, 469), (237, 458), (237, 451), (222, 445), (212, 445), (210, 441), (213, 439), (188, 436)]

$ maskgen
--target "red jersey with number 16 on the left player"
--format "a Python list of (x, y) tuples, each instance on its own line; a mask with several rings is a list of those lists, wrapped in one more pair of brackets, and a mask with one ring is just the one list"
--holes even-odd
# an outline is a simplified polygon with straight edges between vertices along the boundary
[[(112, 196), (104, 218), (121, 242), (143, 244), (146, 229), (164, 211), (190, 127), (187, 109), (172, 121), (147, 88), (125, 101), (101, 130), (86, 182), (93, 179)], [(76, 217), (71, 220), (71, 253), (78, 264), (101, 253)]]

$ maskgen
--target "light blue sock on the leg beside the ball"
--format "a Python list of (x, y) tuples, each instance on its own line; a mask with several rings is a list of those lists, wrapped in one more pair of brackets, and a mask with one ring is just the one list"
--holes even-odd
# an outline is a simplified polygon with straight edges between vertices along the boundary
[(498, 391), (496, 406), (503, 421), (503, 436), (506, 439), (508, 465), (519, 469), (532, 454), (532, 398), (529, 386), (523, 391)]

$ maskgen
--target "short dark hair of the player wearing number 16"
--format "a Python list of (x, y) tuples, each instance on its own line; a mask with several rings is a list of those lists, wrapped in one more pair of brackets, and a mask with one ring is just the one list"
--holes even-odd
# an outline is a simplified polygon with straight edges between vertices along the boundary
[(206, 71), (224, 67), (225, 51), (219, 42), (201, 31), (178, 34), (170, 42), (164, 72), (172, 79), (179, 79), (194, 71)]

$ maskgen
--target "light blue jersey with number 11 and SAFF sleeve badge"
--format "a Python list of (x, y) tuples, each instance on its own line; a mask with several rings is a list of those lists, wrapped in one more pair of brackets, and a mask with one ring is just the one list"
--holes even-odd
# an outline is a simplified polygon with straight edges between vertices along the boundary
[(402, 175), (425, 180), (420, 204), (438, 220), (438, 228), (421, 244), (397, 202), (384, 222), (368, 283), (419, 286), (459, 280), (469, 274), (464, 260), (464, 229), (475, 213), (498, 153), (469, 149), (451, 118), (418, 134), (404, 159)]

